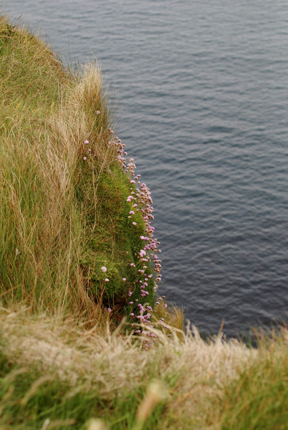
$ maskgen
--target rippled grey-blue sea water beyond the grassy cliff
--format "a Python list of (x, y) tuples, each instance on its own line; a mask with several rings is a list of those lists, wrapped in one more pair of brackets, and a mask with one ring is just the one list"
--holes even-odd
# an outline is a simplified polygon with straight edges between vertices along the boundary
[(159, 293), (206, 332), (288, 319), (284, 0), (10, 0), (107, 71), (118, 135), (149, 184)]

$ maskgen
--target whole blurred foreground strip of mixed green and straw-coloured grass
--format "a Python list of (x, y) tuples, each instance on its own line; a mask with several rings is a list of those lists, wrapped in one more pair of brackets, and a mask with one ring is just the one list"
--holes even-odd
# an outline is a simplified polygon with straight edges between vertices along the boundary
[(170, 332), (146, 350), (100, 324), (0, 310), (0, 428), (288, 428), (285, 329), (257, 350)]

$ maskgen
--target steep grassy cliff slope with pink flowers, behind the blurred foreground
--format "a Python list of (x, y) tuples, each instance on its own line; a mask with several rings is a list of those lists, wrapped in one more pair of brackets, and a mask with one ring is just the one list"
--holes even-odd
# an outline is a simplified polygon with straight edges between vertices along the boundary
[(101, 71), (64, 70), (1, 18), (0, 78), (3, 304), (90, 318), (101, 302), (115, 320), (149, 321), (161, 267), (152, 200), (112, 129)]

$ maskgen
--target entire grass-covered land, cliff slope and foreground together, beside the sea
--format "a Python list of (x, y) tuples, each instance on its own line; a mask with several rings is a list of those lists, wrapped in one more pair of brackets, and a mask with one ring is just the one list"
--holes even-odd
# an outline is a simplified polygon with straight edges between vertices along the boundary
[(155, 304), (99, 68), (64, 71), (0, 18), (0, 95), (0, 430), (288, 429), (286, 329), (205, 342)]

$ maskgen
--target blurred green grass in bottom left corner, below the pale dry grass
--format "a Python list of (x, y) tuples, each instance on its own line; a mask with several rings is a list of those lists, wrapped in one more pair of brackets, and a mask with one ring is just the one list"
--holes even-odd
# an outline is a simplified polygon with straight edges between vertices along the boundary
[[(0, 353), (1, 425), (9, 425), (13, 430), (34, 430), (49, 419), (53, 427), (48, 428), (86, 430), (89, 418), (101, 417), (110, 430), (136, 428), (136, 411), (145, 395), (141, 387), (148, 386), (149, 381), (141, 381), (133, 392), (128, 387), (121, 395), (111, 392), (105, 399), (101, 383), (88, 389), (84, 380), (78, 380), (76, 386), (71, 386), (69, 378), (59, 379), (55, 372), (53, 368), (46, 372), (11, 365)], [(164, 409), (165, 402), (161, 402), (147, 419), (145, 428), (161, 429)]]

